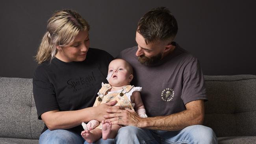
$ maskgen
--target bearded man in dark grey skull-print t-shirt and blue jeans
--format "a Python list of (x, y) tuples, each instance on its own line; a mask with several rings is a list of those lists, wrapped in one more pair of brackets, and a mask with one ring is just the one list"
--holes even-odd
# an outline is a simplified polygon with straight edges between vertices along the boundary
[(202, 126), (204, 77), (197, 58), (182, 49), (174, 37), (176, 19), (165, 7), (146, 13), (138, 23), (138, 46), (123, 50), (118, 58), (134, 68), (134, 85), (142, 87), (141, 98), (148, 118), (117, 107), (105, 118), (124, 125), (117, 143), (199, 143), (214, 144), (211, 128)]

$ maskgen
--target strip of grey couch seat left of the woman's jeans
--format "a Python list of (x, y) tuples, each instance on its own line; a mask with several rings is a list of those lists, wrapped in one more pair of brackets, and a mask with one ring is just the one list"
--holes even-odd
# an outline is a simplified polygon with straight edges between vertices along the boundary
[(0, 144), (39, 144), (39, 140), (0, 138)]

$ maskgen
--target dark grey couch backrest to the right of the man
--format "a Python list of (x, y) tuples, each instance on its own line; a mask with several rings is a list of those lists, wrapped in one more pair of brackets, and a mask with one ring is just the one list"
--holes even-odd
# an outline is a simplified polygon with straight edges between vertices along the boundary
[(256, 136), (256, 76), (205, 76), (204, 125), (217, 137)]

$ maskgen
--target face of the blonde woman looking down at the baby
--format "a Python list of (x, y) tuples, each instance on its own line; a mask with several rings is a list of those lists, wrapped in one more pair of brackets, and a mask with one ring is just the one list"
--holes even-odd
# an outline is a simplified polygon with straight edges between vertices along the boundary
[(57, 46), (58, 52), (55, 55), (64, 62), (84, 61), (89, 50), (90, 40), (88, 31), (79, 31), (74, 41), (67, 46)]

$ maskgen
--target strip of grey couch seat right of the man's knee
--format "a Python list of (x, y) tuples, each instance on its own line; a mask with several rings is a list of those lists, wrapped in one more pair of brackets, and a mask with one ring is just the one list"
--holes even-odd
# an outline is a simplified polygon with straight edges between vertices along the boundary
[(219, 144), (255, 144), (255, 136), (218, 137)]

